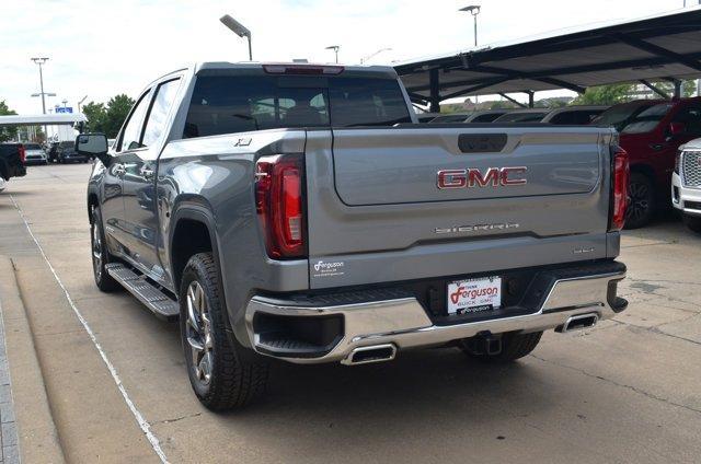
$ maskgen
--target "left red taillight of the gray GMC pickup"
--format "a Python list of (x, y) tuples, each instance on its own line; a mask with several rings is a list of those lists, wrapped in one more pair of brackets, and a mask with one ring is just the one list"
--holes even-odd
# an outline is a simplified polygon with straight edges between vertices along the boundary
[(307, 254), (301, 155), (263, 156), (255, 165), (255, 207), (272, 258)]

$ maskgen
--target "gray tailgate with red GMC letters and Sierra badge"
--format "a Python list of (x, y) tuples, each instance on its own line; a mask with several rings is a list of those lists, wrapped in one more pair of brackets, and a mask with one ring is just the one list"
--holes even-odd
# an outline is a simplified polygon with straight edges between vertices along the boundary
[(549, 126), (310, 131), (311, 287), (606, 257), (612, 137)]

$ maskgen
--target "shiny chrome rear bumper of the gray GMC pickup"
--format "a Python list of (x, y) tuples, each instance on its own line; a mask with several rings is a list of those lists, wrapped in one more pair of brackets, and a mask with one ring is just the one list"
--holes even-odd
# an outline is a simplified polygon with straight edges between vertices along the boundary
[[(400, 298), (344, 305), (285, 305), (263, 297), (254, 297), (246, 308), (246, 330), (251, 346), (260, 353), (296, 363), (350, 363), (358, 348), (393, 345), (398, 350), (443, 345), (473, 337), (480, 333), (501, 334), (521, 330), (540, 332), (562, 327), (571, 317), (596, 314), (610, 318), (622, 308), (612, 308), (609, 283), (619, 281), (625, 272), (608, 272), (570, 279), (559, 279), (551, 287), (540, 308), (533, 313), (456, 325), (435, 325), (415, 298)], [(256, 314), (292, 317), (341, 315), (343, 336), (330, 349), (317, 357), (291, 357), (266, 346), (254, 330)], [(393, 356), (392, 356), (393, 357)]]

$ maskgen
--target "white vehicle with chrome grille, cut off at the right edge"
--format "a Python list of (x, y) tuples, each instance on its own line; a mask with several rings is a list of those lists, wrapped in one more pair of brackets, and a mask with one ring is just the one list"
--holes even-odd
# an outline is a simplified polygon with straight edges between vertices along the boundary
[(679, 148), (671, 174), (671, 206), (689, 229), (701, 233), (701, 139)]

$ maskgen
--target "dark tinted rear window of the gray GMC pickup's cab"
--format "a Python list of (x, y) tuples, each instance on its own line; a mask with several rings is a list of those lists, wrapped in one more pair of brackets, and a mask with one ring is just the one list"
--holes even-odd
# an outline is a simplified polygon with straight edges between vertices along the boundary
[(184, 137), (398, 123), (411, 123), (411, 117), (393, 79), (203, 76), (195, 83)]

